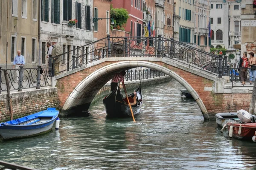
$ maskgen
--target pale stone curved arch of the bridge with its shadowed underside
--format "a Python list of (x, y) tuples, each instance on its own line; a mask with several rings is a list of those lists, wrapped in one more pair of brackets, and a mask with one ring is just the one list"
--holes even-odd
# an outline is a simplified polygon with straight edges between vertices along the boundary
[(102, 88), (103, 85), (105, 85), (105, 83), (107, 83), (109, 79), (112, 78), (115, 72), (136, 68), (140, 66), (161, 71), (177, 80), (193, 96), (193, 98), (195, 99), (199, 108), (202, 111), (204, 119), (209, 119), (209, 115), (207, 113), (207, 109), (204, 105), (204, 102), (202, 101), (198, 93), (192, 88), (191, 85), (189, 85), (189, 83), (185, 79), (180, 77), (178, 74), (176, 74), (169, 68), (163, 67), (153, 62), (138, 60), (115, 62), (113, 64), (109, 64), (102, 68), (99, 68), (98, 70), (88, 75), (76, 86), (73, 92), (68, 96), (67, 100), (64, 103), (61, 113), (66, 114), (68, 111), (71, 110), (71, 108), (81, 107), (84, 104), (87, 104), (84, 107), (85, 109), (88, 109), (90, 103), (92, 102), (94, 96), (98, 93), (99, 89)]

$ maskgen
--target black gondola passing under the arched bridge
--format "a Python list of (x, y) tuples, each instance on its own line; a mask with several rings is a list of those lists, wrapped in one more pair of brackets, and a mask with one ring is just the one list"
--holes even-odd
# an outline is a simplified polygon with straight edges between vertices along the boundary
[[(141, 82), (140, 86), (136, 91), (136, 104), (131, 105), (134, 115), (137, 115), (141, 111), (141, 106), (143, 104), (142, 94), (141, 94)], [(134, 93), (128, 95), (130, 102), (133, 102)], [(107, 117), (111, 118), (122, 118), (122, 117), (131, 117), (131, 110), (128, 105), (126, 96), (122, 97), (120, 93), (119, 84), (116, 87), (116, 90), (113, 90), (112, 93), (103, 99), (103, 104), (106, 108)]]

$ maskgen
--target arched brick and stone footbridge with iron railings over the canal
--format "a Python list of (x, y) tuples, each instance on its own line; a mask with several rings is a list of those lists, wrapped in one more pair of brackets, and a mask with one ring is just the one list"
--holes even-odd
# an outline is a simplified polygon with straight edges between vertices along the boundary
[(222, 57), (160, 36), (108, 36), (61, 55), (63, 61), (53, 63), (55, 68), (59, 67), (53, 84), (58, 88), (63, 115), (87, 111), (114, 73), (140, 66), (161, 71), (180, 82), (197, 102), (204, 119), (213, 118), (218, 112), (236, 111), (244, 105), (236, 101), (241, 94), (224, 93)]

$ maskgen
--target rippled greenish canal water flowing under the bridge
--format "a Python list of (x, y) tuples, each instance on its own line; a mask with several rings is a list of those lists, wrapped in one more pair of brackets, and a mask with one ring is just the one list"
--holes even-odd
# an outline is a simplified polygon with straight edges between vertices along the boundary
[(256, 143), (220, 133), (194, 100), (180, 96), (182, 88), (175, 80), (142, 87), (137, 123), (106, 119), (99, 101), (88, 117), (62, 118), (57, 131), (0, 140), (0, 160), (39, 170), (256, 169)]

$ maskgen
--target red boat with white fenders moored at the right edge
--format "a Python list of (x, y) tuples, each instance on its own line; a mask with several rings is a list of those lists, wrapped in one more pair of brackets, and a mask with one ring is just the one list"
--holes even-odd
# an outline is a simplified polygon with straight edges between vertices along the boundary
[(227, 128), (229, 136), (238, 139), (252, 140), (252, 137), (255, 136), (256, 133), (256, 123), (227, 122)]

